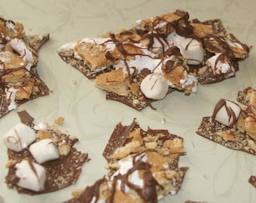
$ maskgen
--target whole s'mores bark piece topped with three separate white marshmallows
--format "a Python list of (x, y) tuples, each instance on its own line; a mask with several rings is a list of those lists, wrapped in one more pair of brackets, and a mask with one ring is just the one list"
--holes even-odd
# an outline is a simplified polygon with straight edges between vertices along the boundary
[(19, 193), (39, 195), (74, 184), (84, 163), (90, 161), (87, 153), (74, 147), (78, 138), (60, 132), (55, 124), (33, 123), (26, 111), (19, 116), (22, 123), (3, 135), (8, 148), (8, 187)]

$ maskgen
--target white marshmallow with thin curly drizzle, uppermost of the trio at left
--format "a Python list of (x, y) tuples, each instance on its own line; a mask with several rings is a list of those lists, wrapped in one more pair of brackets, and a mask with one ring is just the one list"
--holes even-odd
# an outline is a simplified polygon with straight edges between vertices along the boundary
[(4, 144), (8, 149), (20, 152), (35, 141), (35, 131), (23, 123), (18, 123), (4, 135)]

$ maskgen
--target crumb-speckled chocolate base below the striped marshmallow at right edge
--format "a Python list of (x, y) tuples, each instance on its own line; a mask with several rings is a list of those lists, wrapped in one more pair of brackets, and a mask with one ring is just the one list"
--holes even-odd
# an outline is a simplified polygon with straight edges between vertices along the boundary
[(240, 132), (236, 126), (230, 128), (212, 120), (212, 117), (203, 117), (196, 132), (203, 138), (215, 141), (224, 147), (256, 155), (256, 141), (246, 133)]

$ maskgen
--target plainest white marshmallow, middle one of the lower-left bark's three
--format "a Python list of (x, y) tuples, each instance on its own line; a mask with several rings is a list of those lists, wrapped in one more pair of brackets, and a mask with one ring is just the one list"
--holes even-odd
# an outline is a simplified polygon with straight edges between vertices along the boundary
[(59, 159), (59, 150), (51, 139), (44, 139), (29, 146), (29, 152), (38, 163)]

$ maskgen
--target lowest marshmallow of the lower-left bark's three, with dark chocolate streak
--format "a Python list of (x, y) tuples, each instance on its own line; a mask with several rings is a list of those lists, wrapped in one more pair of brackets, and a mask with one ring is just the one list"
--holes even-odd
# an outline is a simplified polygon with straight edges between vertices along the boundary
[(17, 168), (16, 176), (19, 178), (17, 186), (30, 189), (35, 192), (44, 190), (46, 181), (46, 171), (43, 166), (35, 162), (23, 160), (15, 165)]

